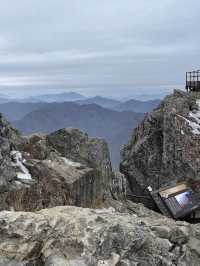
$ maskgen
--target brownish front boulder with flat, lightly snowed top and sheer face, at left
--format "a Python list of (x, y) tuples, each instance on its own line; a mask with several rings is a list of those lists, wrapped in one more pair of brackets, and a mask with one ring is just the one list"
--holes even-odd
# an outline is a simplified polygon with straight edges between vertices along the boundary
[(57, 154), (46, 160), (27, 160), (34, 184), (3, 193), (4, 209), (33, 211), (59, 205), (102, 207), (101, 174)]

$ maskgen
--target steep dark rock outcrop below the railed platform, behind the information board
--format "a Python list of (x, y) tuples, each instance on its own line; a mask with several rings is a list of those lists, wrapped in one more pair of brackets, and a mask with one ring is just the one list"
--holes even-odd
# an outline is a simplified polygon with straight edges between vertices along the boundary
[(200, 179), (198, 99), (198, 94), (175, 91), (134, 130), (120, 166), (134, 201), (152, 207), (148, 186), (158, 189), (170, 182)]

